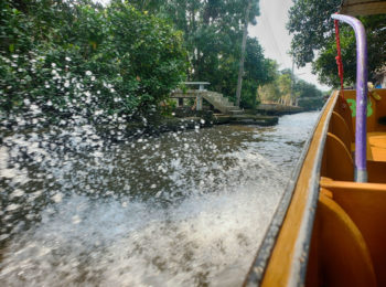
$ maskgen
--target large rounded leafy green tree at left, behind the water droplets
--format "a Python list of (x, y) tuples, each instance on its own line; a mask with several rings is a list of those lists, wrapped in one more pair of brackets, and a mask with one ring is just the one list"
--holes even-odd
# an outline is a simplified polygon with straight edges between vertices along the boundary
[(22, 3), (1, 2), (3, 111), (37, 105), (53, 116), (128, 116), (153, 108), (184, 78), (182, 34), (165, 20), (118, 1)]

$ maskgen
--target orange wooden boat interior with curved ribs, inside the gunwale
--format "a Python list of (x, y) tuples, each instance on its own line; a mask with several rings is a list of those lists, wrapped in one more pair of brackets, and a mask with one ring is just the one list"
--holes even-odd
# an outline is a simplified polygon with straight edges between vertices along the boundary
[(305, 285), (386, 286), (386, 89), (368, 96), (368, 183), (354, 182), (355, 91), (343, 96), (325, 138)]

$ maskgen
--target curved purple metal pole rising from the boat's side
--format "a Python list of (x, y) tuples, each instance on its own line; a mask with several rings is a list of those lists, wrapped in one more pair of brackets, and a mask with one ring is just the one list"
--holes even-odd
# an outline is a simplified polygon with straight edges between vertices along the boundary
[(355, 181), (367, 182), (366, 170), (366, 110), (367, 110), (367, 43), (360, 20), (350, 15), (332, 14), (332, 19), (350, 24), (356, 38), (356, 127), (355, 127)]

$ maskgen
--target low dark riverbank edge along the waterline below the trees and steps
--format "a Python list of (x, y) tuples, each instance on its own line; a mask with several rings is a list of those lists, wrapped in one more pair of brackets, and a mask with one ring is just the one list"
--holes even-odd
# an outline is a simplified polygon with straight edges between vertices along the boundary
[[(0, 127), (3, 136), (11, 136), (15, 131), (22, 134), (37, 132), (42, 134), (50, 130), (51, 127), (66, 128), (72, 127), (72, 118), (65, 118), (57, 125), (46, 121), (40, 121), (39, 126), (32, 125), (33, 120), (29, 119), (31, 124), (20, 126), (17, 121), (10, 121), (9, 125)], [(131, 119), (127, 123), (111, 121), (104, 124), (92, 123), (87, 118), (77, 119), (78, 125), (92, 125), (98, 136), (108, 139), (112, 142), (127, 141), (128, 139), (136, 139), (141, 136), (159, 136), (164, 132), (176, 132), (184, 130), (192, 130), (199, 128), (213, 127), (216, 125), (257, 125), (257, 126), (275, 126), (279, 121), (277, 116), (260, 116), (260, 115), (224, 115), (214, 114), (213, 110), (191, 110), (175, 109), (171, 116), (161, 116), (160, 114), (149, 114), (142, 118)], [(0, 137), (0, 144), (2, 139)]]

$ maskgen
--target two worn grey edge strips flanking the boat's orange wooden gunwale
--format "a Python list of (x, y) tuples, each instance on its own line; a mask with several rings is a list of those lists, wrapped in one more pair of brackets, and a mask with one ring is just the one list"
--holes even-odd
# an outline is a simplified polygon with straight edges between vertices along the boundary
[[(289, 182), (287, 183), (286, 190), (280, 199), (280, 202), (276, 209), (276, 212), (272, 216), (272, 220), (266, 231), (266, 234), (264, 236), (264, 240), (257, 251), (257, 254), (255, 256), (254, 263), (251, 264), (248, 274), (246, 276), (246, 279), (243, 284), (243, 286), (259, 286), (264, 279), (266, 269), (268, 267), (269, 259), (272, 255), (274, 247), (277, 243), (277, 240), (279, 237), (280, 230), (282, 227), (282, 224), (286, 220), (289, 206), (291, 204), (291, 201), (293, 199), (293, 194), (298, 184), (298, 180), (301, 173), (301, 170), (303, 168), (303, 163), (305, 161), (307, 156), (309, 155), (311, 142), (313, 140), (313, 137), (315, 135), (315, 131), (321, 124), (322, 117), (326, 114), (325, 120), (323, 123), (322, 132), (320, 137), (320, 142), (318, 147), (318, 151), (314, 159), (314, 166), (312, 167), (312, 177), (309, 180), (309, 200), (307, 201), (307, 205), (304, 208), (304, 215), (303, 221), (300, 224), (299, 228), (299, 235), (302, 234), (301, 238), (297, 238), (294, 244), (294, 254), (292, 257), (292, 262), (294, 262), (297, 258), (299, 258), (299, 267), (298, 270), (291, 270), (290, 272), (290, 279), (293, 278), (291, 281), (291, 285), (294, 286), (303, 286), (305, 280), (305, 274), (307, 274), (307, 265), (308, 265), (308, 257), (309, 257), (309, 248), (310, 248), (310, 242), (311, 242), (311, 235), (312, 235), (312, 226), (314, 222), (317, 205), (318, 205), (318, 199), (319, 199), (319, 180), (320, 178), (320, 171), (321, 171), (321, 164), (322, 164), (322, 157), (323, 157), (323, 150), (324, 145), (326, 140), (326, 134), (330, 126), (330, 119), (332, 111), (334, 110), (334, 107), (337, 103), (340, 92), (333, 91), (329, 100), (324, 104), (324, 107), (322, 111), (320, 113), (318, 120), (315, 125), (313, 126), (313, 129), (310, 134), (310, 137), (308, 138), (308, 141), (305, 142), (302, 153), (298, 160), (298, 163), (294, 168), (294, 170), (291, 173), (291, 177), (289, 179)], [(331, 103), (332, 102), (332, 103)], [(330, 106), (330, 109), (328, 107)], [(293, 281), (294, 280), (294, 281)]]

